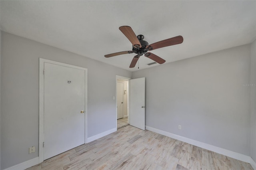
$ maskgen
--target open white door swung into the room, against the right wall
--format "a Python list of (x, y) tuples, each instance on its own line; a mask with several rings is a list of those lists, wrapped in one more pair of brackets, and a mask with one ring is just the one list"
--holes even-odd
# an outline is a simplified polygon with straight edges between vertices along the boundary
[(145, 77), (130, 80), (130, 125), (145, 130)]

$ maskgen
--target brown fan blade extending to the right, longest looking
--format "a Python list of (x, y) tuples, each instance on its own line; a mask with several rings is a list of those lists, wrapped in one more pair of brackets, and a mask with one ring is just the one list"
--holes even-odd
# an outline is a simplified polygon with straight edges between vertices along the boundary
[(176, 45), (176, 44), (179, 44), (179, 43), (182, 43), (182, 42), (183, 42), (183, 37), (182, 36), (176, 36), (176, 37), (173, 37), (173, 38), (162, 40), (160, 42), (152, 43), (152, 44), (148, 45), (146, 48), (148, 48), (148, 51), (151, 51), (153, 49), (167, 47), (167, 46), (170, 46), (170, 45)]

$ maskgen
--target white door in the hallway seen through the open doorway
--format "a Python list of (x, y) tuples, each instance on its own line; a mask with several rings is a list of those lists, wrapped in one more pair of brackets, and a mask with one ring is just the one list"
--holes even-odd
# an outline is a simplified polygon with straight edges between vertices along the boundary
[(124, 84), (117, 82), (116, 83), (116, 90), (117, 90), (117, 119), (123, 118), (123, 113), (124, 113), (124, 103), (123, 103), (123, 91), (124, 91)]

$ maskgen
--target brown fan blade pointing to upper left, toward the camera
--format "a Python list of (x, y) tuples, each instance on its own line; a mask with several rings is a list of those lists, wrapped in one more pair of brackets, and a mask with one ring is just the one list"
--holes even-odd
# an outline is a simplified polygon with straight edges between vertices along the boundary
[(130, 40), (134, 47), (142, 47), (140, 41), (138, 40), (137, 36), (135, 35), (131, 27), (121, 26), (119, 27), (119, 30), (128, 38), (128, 40)]

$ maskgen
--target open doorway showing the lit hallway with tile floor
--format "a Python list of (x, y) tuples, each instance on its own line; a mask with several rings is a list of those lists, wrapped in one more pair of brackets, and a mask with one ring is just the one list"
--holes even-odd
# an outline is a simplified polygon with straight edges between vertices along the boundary
[(129, 121), (129, 81), (130, 78), (116, 76), (116, 128), (124, 128)]

